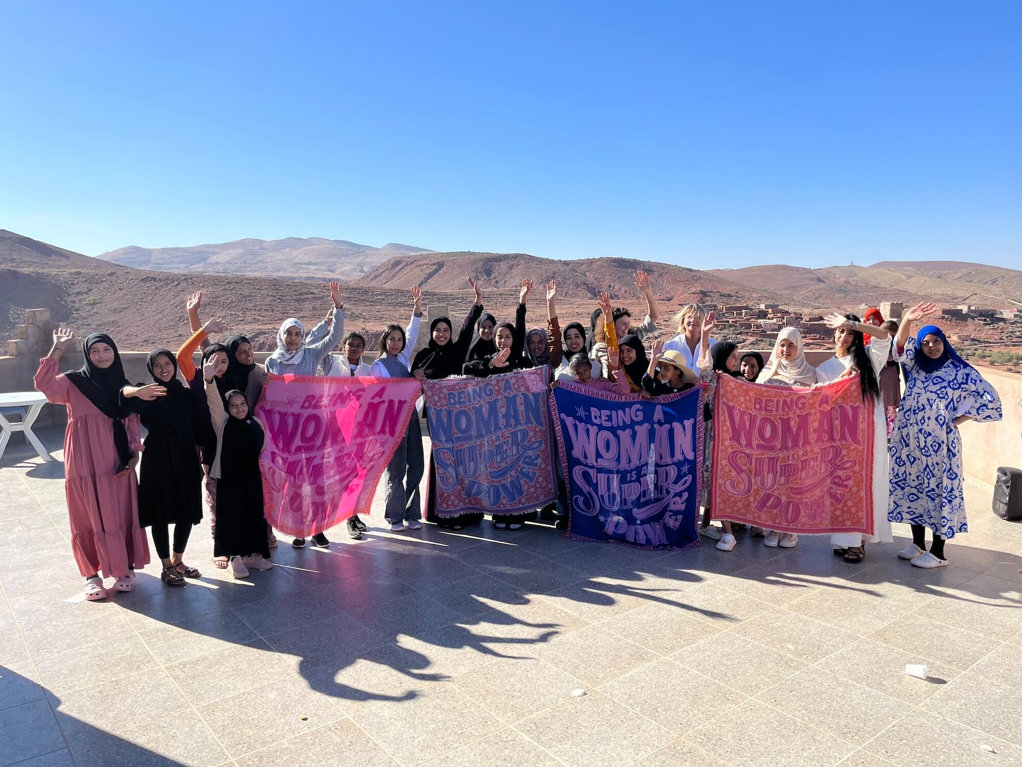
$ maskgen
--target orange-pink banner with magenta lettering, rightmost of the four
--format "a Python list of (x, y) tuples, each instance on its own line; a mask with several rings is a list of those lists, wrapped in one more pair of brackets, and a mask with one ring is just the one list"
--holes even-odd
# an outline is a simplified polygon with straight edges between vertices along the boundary
[(712, 515), (784, 533), (872, 535), (873, 428), (858, 376), (811, 390), (718, 376)]

